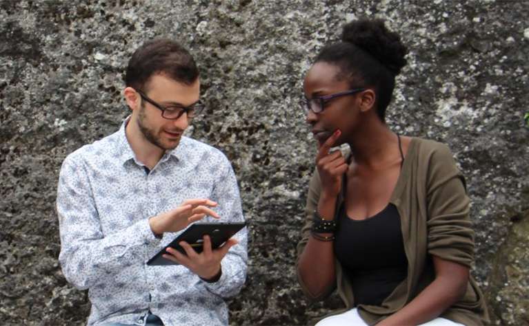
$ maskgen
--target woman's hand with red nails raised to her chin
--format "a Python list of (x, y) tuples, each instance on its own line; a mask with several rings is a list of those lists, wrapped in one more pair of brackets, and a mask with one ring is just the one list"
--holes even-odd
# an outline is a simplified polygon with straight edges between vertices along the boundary
[(341, 190), (341, 176), (346, 173), (348, 164), (341, 151), (329, 153), (330, 148), (338, 140), (341, 131), (337, 129), (319, 146), (316, 155), (316, 166), (321, 180), (322, 195), (335, 197)]

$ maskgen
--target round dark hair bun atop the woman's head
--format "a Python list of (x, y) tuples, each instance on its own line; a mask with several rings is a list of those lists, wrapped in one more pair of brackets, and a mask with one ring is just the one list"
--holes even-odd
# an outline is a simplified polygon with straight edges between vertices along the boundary
[(382, 19), (360, 19), (347, 23), (343, 26), (341, 40), (368, 52), (395, 76), (406, 65), (404, 56), (408, 49), (397, 33), (386, 28)]

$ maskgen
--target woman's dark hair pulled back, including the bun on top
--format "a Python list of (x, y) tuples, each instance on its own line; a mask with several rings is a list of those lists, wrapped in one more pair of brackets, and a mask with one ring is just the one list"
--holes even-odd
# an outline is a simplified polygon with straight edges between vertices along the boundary
[(361, 19), (343, 26), (341, 42), (324, 47), (316, 62), (337, 65), (341, 69), (337, 78), (349, 80), (352, 88), (374, 87), (377, 113), (384, 121), (395, 76), (406, 65), (407, 53), (400, 36), (390, 32), (383, 20)]

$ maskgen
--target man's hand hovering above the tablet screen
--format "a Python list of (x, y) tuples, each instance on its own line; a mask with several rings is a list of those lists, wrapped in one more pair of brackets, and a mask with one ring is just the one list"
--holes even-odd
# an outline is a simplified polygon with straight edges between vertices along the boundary
[(183, 230), (206, 215), (218, 219), (219, 215), (210, 209), (215, 206), (217, 203), (210, 199), (188, 199), (178, 208), (151, 217), (149, 219), (150, 229), (154, 235), (162, 235), (163, 232)]

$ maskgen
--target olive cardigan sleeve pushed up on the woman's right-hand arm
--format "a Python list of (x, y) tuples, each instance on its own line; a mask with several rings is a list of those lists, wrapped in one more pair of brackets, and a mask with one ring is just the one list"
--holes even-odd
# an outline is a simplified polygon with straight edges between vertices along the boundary
[(439, 144), (428, 159), (428, 252), (470, 268), (474, 260), (474, 231), (465, 179), (448, 146)]

